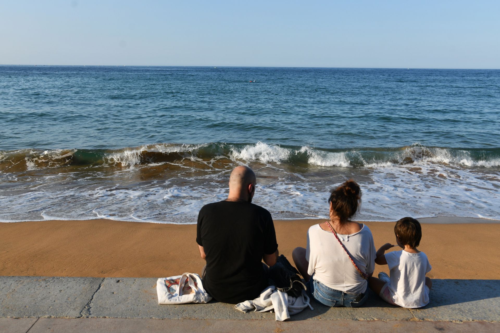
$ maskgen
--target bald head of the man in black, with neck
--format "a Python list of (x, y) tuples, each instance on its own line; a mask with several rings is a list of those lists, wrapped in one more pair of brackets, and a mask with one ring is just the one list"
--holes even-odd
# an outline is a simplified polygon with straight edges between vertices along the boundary
[(255, 193), (257, 179), (255, 173), (248, 166), (236, 166), (229, 176), (228, 200), (251, 202)]

